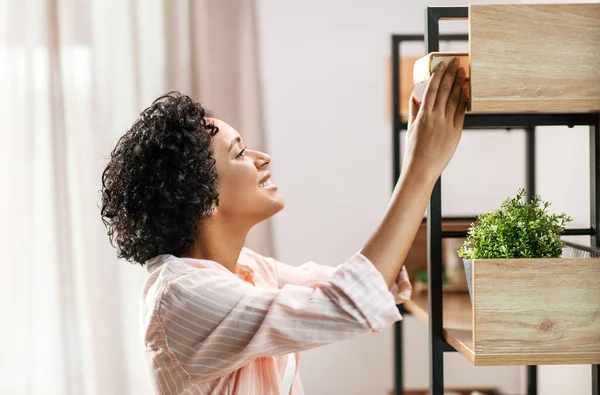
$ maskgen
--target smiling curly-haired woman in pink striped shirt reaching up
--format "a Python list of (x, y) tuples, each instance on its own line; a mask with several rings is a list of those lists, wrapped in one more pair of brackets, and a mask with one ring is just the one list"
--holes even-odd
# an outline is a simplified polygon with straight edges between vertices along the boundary
[(149, 273), (143, 344), (157, 394), (299, 395), (299, 351), (401, 319), (396, 304), (411, 291), (403, 261), (462, 133), (464, 74), (442, 64), (423, 103), (411, 103), (385, 217), (335, 268), (296, 268), (244, 247), (284, 207), (268, 155), (184, 95), (141, 114), (103, 173), (102, 217), (119, 257)]

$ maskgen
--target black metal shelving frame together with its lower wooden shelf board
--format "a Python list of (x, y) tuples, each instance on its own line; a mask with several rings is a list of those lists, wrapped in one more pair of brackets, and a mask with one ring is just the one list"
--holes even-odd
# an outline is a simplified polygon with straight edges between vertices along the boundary
[[(427, 7), (425, 12), (425, 35), (392, 36), (392, 140), (393, 140), (393, 184), (396, 184), (401, 171), (400, 133), (407, 129), (400, 108), (400, 44), (405, 41), (425, 41), (425, 53), (439, 51), (440, 41), (467, 41), (468, 35), (440, 35), (439, 21), (442, 19), (468, 19), (468, 7)], [(569, 229), (565, 235), (588, 235), (591, 246), (573, 247), (600, 254), (600, 238), (596, 230), (600, 228), (600, 113), (510, 113), (477, 114), (468, 113), (464, 129), (508, 129), (525, 131), (526, 189), (528, 198), (535, 195), (535, 139), (536, 126), (576, 126), (590, 127), (590, 228)], [(537, 395), (537, 367), (546, 363), (590, 363), (592, 364), (592, 395), (600, 395), (600, 371), (597, 356), (561, 356), (549, 361), (548, 355), (529, 355), (520, 358), (487, 356), (481, 357), (474, 351), (472, 304), (468, 294), (444, 294), (442, 292), (442, 239), (464, 238), (466, 232), (442, 231), (441, 178), (436, 182), (431, 195), (427, 218), (427, 296), (416, 296), (404, 306), (398, 306), (402, 313), (411, 313), (429, 328), (429, 363), (431, 395), (443, 395), (443, 355), (444, 352), (458, 352), (474, 365), (525, 365), (527, 367), (527, 395)], [(404, 394), (403, 326), (395, 326), (395, 394)]]

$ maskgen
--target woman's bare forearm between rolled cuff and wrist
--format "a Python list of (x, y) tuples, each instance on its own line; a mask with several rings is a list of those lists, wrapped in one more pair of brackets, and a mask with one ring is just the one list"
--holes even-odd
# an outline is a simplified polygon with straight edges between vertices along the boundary
[(381, 224), (361, 251), (381, 272), (388, 287), (402, 268), (436, 178), (427, 167), (406, 163)]

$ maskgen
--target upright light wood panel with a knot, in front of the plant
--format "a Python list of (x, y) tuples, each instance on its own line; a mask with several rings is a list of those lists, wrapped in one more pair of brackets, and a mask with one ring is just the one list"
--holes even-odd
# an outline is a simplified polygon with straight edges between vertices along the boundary
[(473, 262), (476, 354), (596, 354), (600, 259)]

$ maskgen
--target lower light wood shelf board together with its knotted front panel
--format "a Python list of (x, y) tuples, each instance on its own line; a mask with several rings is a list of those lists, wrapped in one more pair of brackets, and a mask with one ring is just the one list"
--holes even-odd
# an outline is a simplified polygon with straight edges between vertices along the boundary
[[(600, 259), (476, 260), (444, 293), (444, 339), (476, 366), (600, 363)], [(429, 324), (427, 294), (405, 308)], [(475, 330), (473, 330), (475, 328)]]

